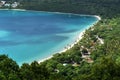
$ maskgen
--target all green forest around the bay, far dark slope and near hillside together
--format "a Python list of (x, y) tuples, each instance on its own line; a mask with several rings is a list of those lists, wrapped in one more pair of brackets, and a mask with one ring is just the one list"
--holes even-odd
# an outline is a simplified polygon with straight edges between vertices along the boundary
[[(14, 0), (12, 0), (14, 1)], [(18, 0), (19, 8), (100, 15), (70, 50), (19, 66), (0, 56), (0, 80), (119, 80), (120, 0)]]

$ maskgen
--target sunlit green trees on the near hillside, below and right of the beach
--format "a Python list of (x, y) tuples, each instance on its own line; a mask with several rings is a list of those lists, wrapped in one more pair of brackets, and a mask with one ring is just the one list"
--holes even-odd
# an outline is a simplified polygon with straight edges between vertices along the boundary
[[(104, 40), (101, 44), (96, 35)], [(120, 18), (104, 19), (86, 30), (83, 39), (63, 54), (38, 64), (18, 66), (5, 55), (0, 56), (0, 80), (119, 80)], [(82, 58), (81, 46), (90, 51), (89, 63)]]

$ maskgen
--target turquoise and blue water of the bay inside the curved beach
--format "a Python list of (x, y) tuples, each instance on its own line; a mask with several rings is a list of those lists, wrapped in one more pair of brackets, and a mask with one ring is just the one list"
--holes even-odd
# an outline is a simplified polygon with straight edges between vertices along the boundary
[(97, 20), (93, 16), (0, 10), (0, 54), (20, 65), (42, 60), (73, 43)]

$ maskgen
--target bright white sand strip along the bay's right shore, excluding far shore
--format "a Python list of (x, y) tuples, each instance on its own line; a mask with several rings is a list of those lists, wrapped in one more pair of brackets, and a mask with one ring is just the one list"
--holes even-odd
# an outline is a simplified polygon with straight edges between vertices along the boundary
[[(90, 15), (89, 15), (89, 16), (90, 16)], [(96, 17), (98, 20), (97, 20), (94, 24), (92, 24), (90, 27), (93, 27), (95, 24), (97, 24), (97, 22), (99, 22), (99, 21), (101, 20), (101, 17), (100, 17), (100, 16), (94, 15), (94, 17)], [(90, 28), (90, 27), (89, 27), (89, 28)], [(70, 45), (65, 46), (65, 48), (64, 48), (62, 51), (58, 52), (58, 53), (61, 54), (61, 53), (63, 53), (63, 52), (66, 52), (67, 50), (71, 49), (75, 44), (77, 44), (77, 43), (82, 39), (85, 31), (86, 31), (86, 29), (85, 29), (84, 31), (80, 32), (80, 34), (78, 35), (78, 38), (75, 40), (75, 42), (74, 42), (73, 44), (70, 44)], [(44, 59), (42, 59), (42, 60), (39, 60), (38, 63), (41, 63), (41, 62), (43, 62), (43, 61), (46, 61), (46, 60), (48, 60), (48, 59), (50, 59), (50, 58), (52, 58), (52, 57), (53, 57), (53, 55), (51, 55), (51, 56), (49, 56), (49, 57), (47, 57), (47, 58), (44, 58)]]

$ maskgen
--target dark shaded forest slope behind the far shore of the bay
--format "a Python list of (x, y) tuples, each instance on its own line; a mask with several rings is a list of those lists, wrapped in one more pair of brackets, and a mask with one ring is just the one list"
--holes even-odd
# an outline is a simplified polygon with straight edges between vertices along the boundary
[(18, 8), (113, 17), (120, 13), (120, 0), (6, 0), (20, 2)]

